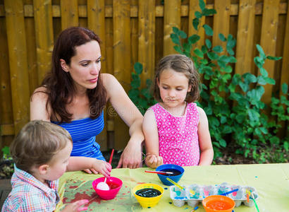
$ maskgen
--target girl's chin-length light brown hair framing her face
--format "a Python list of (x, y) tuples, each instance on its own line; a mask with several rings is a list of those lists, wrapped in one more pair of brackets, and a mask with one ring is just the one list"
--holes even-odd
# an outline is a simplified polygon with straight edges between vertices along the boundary
[(183, 73), (189, 79), (189, 85), (192, 86), (190, 92), (187, 93), (185, 98), (186, 102), (194, 102), (199, 99), (199, 73), (195, 69), (192, 60), (183, 54), (170, 54), (163, 57), (159, 64), (156, 66), (156, 74), (154, 77), (154, 98), (158, 102), (163, 102), (161, 100), (161, 94), (159, 92), (159, 86), (157, 81), (159, 81), (159, 76), (165, 69), (173, 69), (173, 71)]

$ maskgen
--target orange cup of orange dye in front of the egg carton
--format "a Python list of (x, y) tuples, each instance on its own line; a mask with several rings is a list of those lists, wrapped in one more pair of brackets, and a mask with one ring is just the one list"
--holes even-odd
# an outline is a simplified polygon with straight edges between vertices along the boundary
[(223, 195), (207, 196), (202, 204), (207, 212), (231, 212), (235, 208), (235, 201)]

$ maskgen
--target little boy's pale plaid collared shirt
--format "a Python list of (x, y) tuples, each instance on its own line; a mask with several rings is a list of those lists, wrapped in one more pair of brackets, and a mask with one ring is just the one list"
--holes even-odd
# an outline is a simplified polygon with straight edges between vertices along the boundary
[(16, 165), (14, 168), (11, 178), (12, 191), (4, 202), (2, 212), (54, 211), (59, 202), (59, 181), (47, 181), (49, 188), (29, 173), (18, 169)]

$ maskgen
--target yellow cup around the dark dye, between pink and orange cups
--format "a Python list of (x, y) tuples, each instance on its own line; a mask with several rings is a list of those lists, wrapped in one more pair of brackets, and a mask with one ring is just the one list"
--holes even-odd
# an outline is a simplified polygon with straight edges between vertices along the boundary
[[(135, 194), (140, 189), (156, 189), (161, 192), (159, 196), (154, 197), (143, 197), (138, 196)], [(161, 199), (161, 196), (164, 194), (164, 189), (160, 187), (158, 184), (152, 184), (152, 183), (144, 183), (144, 184), (138, 184), (133, 188), (133, 195), (135, 195), (135, 199), (139, 202), (139, 204), (142, 206), (142, 208), (152, 208), (156, 204), (159, 203), (159, 200)]]

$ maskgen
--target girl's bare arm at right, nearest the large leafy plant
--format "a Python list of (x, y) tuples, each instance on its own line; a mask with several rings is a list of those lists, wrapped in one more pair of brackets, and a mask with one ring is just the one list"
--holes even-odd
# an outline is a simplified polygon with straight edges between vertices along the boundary
[(207, 115), (202, 108), (197, 107), (197, 110), (199, 111), (199, 125), (197, 129), (200, 150), (199, 165), (211, 165), (214, 158), (214, 150), (211, 145)]

